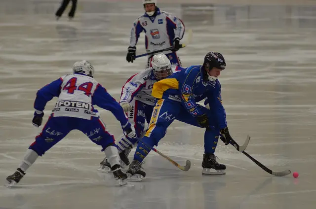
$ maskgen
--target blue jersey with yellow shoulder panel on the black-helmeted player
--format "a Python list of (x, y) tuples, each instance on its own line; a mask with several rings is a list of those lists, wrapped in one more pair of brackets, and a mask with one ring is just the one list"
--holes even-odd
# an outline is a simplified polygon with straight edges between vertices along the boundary
[(152, 96), (180, 102), (194, 117), (204, 113), (197, 102), (207, 98), (219, 127), (225, 128), (227, 121), (225, 108), (222, 105), (221, 84), (218, 80), (205, 81), (201, 67), (178, 67), (180, 71), (154, 84)]

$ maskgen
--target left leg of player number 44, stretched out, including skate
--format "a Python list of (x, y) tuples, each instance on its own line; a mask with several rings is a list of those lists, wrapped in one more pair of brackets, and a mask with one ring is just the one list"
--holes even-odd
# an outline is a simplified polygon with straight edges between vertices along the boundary
[(9, 175), (7, 186), (18, 183), (39, 156), (63, 139), (72, 129), (68, 126), (67, 117), (49, 117), (41, 133), (26, 151), (16, 172)]

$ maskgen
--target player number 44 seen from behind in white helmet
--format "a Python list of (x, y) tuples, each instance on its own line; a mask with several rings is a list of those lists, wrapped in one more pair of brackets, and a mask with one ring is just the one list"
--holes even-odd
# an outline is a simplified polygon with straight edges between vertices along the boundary
[(36, 127), (42, 123), (46, 103), (53, 97), (58, 97), (58, 101), (40, 135), (30, 145), (16, 172), (6, 178), (7, 186), (18, 183), (39, 156), (66, 137), (70, 131), (76, 129), (83, 132), (94, 143), (102, 146), (101, 151), (105, 152), (109, 162), (113, 165), (111, 170), (114, 177), (119, 184), (126, 183), (124, 179), (127, 176), (120, 169), (115, 139), (106, 130), (105, 124), (101, 121), (99, 113), (93, 105), (110, 110), (120, 122), (127, 137), (135, 138), (136, 133), (128, 122), (122, 107), (93, 78), (93, 73), (94, 69), (89, 62), (76, 62), (73, 73), (60, 77), (37, 92), (32, 121)]

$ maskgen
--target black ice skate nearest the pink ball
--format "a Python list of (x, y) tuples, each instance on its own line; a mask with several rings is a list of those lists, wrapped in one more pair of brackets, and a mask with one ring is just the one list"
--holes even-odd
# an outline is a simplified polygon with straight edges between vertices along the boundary
[(216, 161), (214, 154), (203, 154), (202, 174), (223, 175), (226, 174), (226, 166)]

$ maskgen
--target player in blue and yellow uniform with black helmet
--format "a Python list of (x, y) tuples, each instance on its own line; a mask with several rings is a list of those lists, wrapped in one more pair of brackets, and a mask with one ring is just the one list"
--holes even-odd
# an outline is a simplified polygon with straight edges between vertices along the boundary
[[(226, 166), (219, 164), (214, 155), (219, 135), (223, 137), (221, 139), (226, 145), (232, 139), (222, 105), (221, 84), (217, 80), (225, 67), (222, 54), (209, 52), (203, 65), (180, 68), (181, 71), (156, 82), (152, 95), (158, 100), (149, 129), (142, 140), (150, 146), (157, 146), (167, 127), (175, 119), (205, 128), (202, 174), (225, 174)], [(197, 104), (205, 98), (210, 109)], [(145, 177), (141, 163), (150, 151), (149, 147), (138, 142), (134, 160), (127, 170), (131, 180), (141, 180)]]

